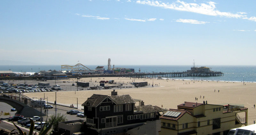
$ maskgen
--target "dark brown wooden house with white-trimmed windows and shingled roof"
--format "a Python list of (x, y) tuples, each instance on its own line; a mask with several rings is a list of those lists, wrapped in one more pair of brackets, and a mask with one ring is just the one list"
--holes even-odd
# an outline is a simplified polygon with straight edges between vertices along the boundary
[(115, 91), (111, 95), (93, 94), (82, 104), (86, 124), (99, 134), (123, 133), (159, 119), (160, 107), (144, 105), (143, 101), (135, 106), (130, 95), (117, 95)]

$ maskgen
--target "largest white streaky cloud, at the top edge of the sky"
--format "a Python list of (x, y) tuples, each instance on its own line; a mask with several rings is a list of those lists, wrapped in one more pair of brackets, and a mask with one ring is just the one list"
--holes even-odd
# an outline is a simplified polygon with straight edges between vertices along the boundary
[(147, 4), (150, 6), (156, 6), (156, 7), (162, 7), (166, 9), (173, 9), (173, 10), (179, 10), (179, 11), (187, 11), (187, 12), (195, 12), (205, 15), (211, 15), (211, 16), (224, 16), (229, 18), (243, 18), (246, 15), (238, 14), (238, 13), (230, 13), (230, 12), (220, 12), (218, 10), (215, 10), (216, 6), (214, 2), (207, 2), (207, 4), (196, 4), (196, 3), (186, 3), (180, 0), (177, 0), (176, 2), (170, 4), (170, 3), (163, 3), (161, 1), (149, 1), (149, 0), (138, 0), (136, 1), (138, 4)]

